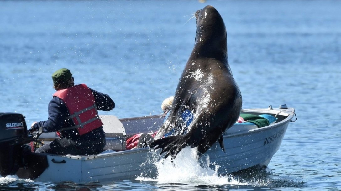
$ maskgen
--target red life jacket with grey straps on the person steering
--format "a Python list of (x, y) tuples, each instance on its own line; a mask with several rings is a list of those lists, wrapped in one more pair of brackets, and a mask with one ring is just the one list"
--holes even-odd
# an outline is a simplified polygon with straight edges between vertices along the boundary
[(70, 112), (70, 116), (65, 120), (72, 119), (75, 124), (72, 127), (63, 127), (60, 129), (61, 131), (76, 128), (79, 135), (84, 135), (103, 125), (96, 109), (95, 97), (85, 84), (58, 90), (53, 96), (64, 101)]

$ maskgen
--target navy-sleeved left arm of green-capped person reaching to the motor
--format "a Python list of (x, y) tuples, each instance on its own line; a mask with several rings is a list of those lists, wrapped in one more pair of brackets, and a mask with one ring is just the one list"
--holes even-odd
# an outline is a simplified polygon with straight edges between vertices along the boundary
[(65, 103), (60, 98), (54, 97), (48, 104), (48, 119), (35, 123), (32, 128), (38, 130), (39, 127), (43, 127), (45, 132), (59, 131), (66, 114), (68, 114), (68, 109)]

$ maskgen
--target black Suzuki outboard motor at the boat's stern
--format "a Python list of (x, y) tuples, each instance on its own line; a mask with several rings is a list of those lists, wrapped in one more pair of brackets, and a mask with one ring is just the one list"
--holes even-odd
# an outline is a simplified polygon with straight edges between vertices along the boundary
[(24, 166), (24, 146), (33, 141), (27, 134), (25, 117), (14, 112), (0, 112), (0, 174), (14, 175)]

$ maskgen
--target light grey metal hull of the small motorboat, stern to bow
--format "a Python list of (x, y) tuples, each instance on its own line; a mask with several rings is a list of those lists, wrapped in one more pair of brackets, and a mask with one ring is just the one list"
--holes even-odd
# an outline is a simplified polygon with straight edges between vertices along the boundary
[[(228, 129), (223, 134), (225, 153), (216, 143), (202, 156), (203, 160), (209, 158), (210, 168), (216, 169), (219, 166), (219, 174), (228, 174), (254, 166), (267, 166), (278, 151), (294, 115), (294, 109), (254, 109), (243, 112), (254, 115), (271, 114), (276, 116), (279, 122), (261, 128), (255, 125), (234, 125)], [(143, 123), (139, 123), (140, 120)], [(150, 116), (121, 121), (127, 126), (140, 124), (141, 129), (147, 128), (141, 127), (141, 124), (152, 124), (153, 128), (151, 129), (149, 125), (148, 132), (155, 131), (162, 122), (160, 117)], [(135, 128), (133, 125), (130, 126), (132, 129)], [(129, 129), (125, 131), (129, 132)], [(142, 148), (91, 156), (47, 155), (48, 167), (35, 181), (93, 183), (135, 179), (138, 176), (153, 177), (157, 174), (153, 161), (157, 160), (155, 157), (159, 157), (159, 152)]]

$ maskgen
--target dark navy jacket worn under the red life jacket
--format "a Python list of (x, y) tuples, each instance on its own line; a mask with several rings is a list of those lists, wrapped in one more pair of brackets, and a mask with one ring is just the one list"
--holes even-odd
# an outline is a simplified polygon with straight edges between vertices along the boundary
[[(97, 110), (103, 110), (103, 111), (109, 111), (115, 108), (114, 101), (109, 97), (109, 95), (95, 91), (93, 89), (90, 89), (95, 97), (95, 104), (97, 107)], [(59, 131), (62, 127), (68, 127), (68, 126), (74, 126), (74, 123), (72, 120), (65, 121), (65, 117), (70, 116), (69, 110), (66, 107), (63, 100), (61, 100), (58, 97), (53, 97), (50, 103), (48, 104), (48, 120), (47, 121), (40, 121), (38, 123), (35, 123), (33, 125), (34, 129), (39, 129), (40, 126), (44, 127), (44, 132), (55, 132)], [(64, 124), (65, 123), (65, 124)], [(96, 130), (93, 130), (93, 132), (89, 132), (82, 137), (91, 137), (91, 134), (95, 133)], [(103, 128), (98, 128), (97, 131), (103, 131)], [(102, 134), (103, 132), (100, 132), (98, 134)], [(63, 131), (61, 134), (61, 137), (69, 138), (74, 141), (79, 140), (81, 136), (78, 135), (77, 131), (75, 129), (70, 129), (67, 131)]]

